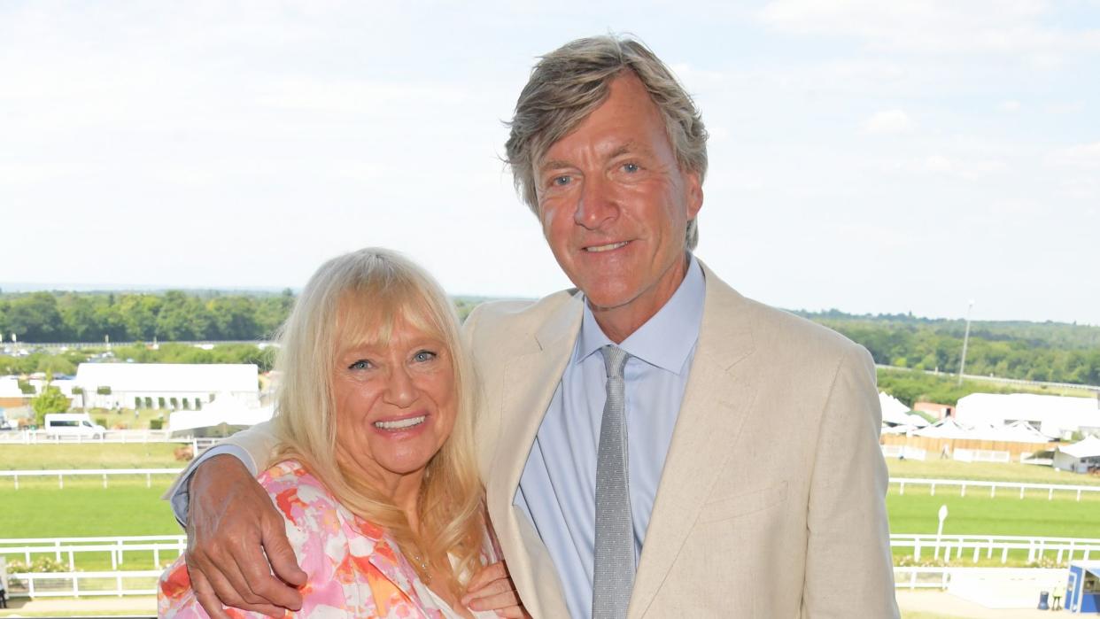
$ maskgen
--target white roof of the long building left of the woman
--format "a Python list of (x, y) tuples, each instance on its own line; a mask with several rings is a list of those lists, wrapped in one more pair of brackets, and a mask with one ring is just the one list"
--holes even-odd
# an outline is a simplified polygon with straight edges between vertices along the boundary
[(110, 387), (113, 393), (254, 393), (258, 379), (254, 364), (81, 363), (76, 371), (76, 383), (86, 393), (97, 387)]

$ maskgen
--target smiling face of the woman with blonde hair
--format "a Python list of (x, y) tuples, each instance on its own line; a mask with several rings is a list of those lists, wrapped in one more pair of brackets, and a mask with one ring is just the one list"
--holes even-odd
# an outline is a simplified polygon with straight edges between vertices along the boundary
[(418, 487), (454, 427), (451, 352), (404, 320), (385, 345), (341, 347), (340, 335), (332, 374), (338, 450), (382, 490), (403, 479)]

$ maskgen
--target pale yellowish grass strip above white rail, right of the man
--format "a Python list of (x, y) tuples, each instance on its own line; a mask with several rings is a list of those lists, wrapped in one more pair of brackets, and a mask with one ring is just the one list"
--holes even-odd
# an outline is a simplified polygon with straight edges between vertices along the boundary
[[(1019, 462), (957, 462), (954, 460), (898, 460), (887, 458), (891, 477), (923, 477), (932, 479), (975, 479), (987, 482), (1024, 482), (1028, 484), (1066, 484), (1072, 486), (1100, 486), (1100, 477), (1058, 471), (1052, 466), (1020, 464)], [(905, 489), (909, 494), (909, 488)]]

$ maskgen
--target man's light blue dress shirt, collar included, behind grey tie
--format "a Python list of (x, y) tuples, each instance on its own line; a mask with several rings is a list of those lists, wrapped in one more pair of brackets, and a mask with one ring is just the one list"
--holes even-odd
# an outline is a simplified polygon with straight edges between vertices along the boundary
[[(705, 292), (703, 269), (692, 256), (672, 298), (618, 344), (630, 354), (624, 378), (635, 565), (695, 356)], [(592, 616), (596, 451), (607, 399), (597, 351), (612, 343), (585, 303), (573, 356), (539, 425), (515, 498), (550, 551), (574, 619)]]

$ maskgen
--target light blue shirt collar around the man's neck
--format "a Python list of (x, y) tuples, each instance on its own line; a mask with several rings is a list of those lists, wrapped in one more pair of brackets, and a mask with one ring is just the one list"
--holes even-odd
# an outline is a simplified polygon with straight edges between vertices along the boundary
[[(703, 279), (703, 268), (695, 256), (689, 254), (689, 259), (688, 273), (668, 302), (618, 344), (631, 356), (673, 374), (680, 374), (684, 368), (684, 362), (695, 346), (700, 327), (703, 324), (706, 283)], [(583, 295), (582, 300), (584, 300)], [(601, 347), (613, 343), (596, 323), (596, 317), (585, 302), (584, 319), (581, 322), (581, 335), (576, 340), (573, 363), (581, 363)]]

